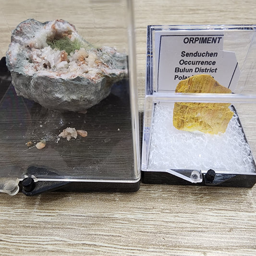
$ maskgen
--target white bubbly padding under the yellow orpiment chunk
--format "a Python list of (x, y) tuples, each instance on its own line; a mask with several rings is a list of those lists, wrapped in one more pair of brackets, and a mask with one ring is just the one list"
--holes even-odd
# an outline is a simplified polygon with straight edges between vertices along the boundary
[(224, 134), (177, 130), (172, 124), (174, 103), (155, 106), (148, 168), (199, 169), (216, 172), (255, 172), (249, 145), (234, 114)]

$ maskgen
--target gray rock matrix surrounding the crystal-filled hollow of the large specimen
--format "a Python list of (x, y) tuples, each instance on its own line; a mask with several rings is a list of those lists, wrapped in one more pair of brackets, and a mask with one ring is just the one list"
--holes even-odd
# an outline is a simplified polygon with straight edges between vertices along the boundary
[[(61, 31), (56, 28), (58, 24)], [(69, 27), (69, 35), (82, 40), (89, 46), (88, 52), (93, 52), (101, 63), (94, 76), (93, 72), (90, 75), (85, 72), (77, 76), (73, 75), (73, 77), (66, 75), (63, 78), (60, 70), (56, 71), (49, 67), (41, 70), (33, 68), (33, 63), (31, 63), (33, 50), (48, 47), (48, 37), (54, 38), (63, 35), (65, 24)], [(47, 109), (59, 111), (87, 110), (110, 94), (113, 83), (127, 77), (125, 54), (118, 53), (110, 47), (92, 47), (78, 35), (72, 24), (63, 20), (41, 23), (34, 19), (28, 19), (20, 23), (12, 31), (6, 62), (18, 96), (32, 99)], [(67, 71), (65, 72), (67, 73)]]

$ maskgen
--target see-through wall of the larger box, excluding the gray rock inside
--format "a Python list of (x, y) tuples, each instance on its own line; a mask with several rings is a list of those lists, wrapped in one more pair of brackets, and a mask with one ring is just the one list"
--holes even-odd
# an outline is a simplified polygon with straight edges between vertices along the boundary
[[(85, 42), (98, 52), (104, 47), (118, 52), (123, 64), (120, 69), (125, 74), (123, 79), (114, 80), (107, 97), (87, 110), (56, 111), (17, 96), (11, 85), (11, 76), (6, 68), (2, 68), (0, 190), (15, 194), (17, 183), (31, 176), (36, 181), (138, 183), (132, 1), (59, 1), (47, 4), (26, 1), (25, 13), (19, 11), (21, 4), (12, 1), (2, 7), (0, 30), (4, 36), (0, 43), (1, 57), (8, 50), (12, 30), (21, 22), (30, 18), (42, 23), (62, 19), (73, 24)], [(74, 51), (68, 54), (72, 55)], [(103, 57), (99, 61), (104, 62)], [(111, 65), (107, 68), (110, 69)], [(68, 141), (59, 136), (67, 127), (86, 131), (87, 136), (77, 135)], [(37, 149), (36, 144), (40, 141), (46, 146)]]

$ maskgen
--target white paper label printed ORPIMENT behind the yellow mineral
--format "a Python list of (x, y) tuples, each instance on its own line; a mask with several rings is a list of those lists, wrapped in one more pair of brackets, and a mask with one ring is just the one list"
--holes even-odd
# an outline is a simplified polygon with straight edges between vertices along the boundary
[(233, 91), (240, 70), (235, 53), (223, 50), (224, 35), (217, 32), (155, 31), (155, 90), (175, 91), (183, 79), (210, 74)]

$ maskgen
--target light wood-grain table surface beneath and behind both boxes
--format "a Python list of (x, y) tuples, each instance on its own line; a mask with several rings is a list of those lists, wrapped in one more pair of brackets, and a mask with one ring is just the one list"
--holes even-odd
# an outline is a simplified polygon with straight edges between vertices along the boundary
[[(51, 13), (58, 9), (43, 2)], [(2, 56), (16, 20), (29, 18), (32, 5), (0, 0)], [(140, 0), (134, 8), (140, 109), (146, 25), (256, 24), (255, 0)], [(133, 194), (0, 194), (0, 255), (256, 255), (256, 187), (141, 184)]]

